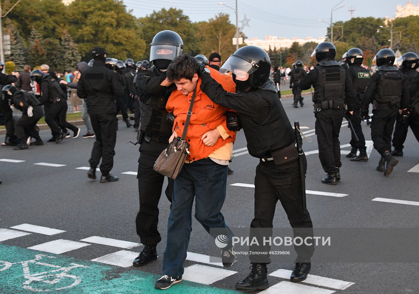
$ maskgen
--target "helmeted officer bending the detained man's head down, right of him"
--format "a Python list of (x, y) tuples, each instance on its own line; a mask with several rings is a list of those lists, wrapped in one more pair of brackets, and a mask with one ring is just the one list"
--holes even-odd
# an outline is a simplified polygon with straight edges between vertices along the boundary
[[(295, 134), (290, 121), (277, 96), (277, 87), (269, 79), (270, 59), (266, 51), (256, 46), (244, 46), (225, 61), (220, 74), (233, 73), (237, 93), (226, 92), (202, 66), (199, 75), (201, 90), (218, 105), (235, 110), (240, 115), (241, 125), (246, 135), (251, 156), (259, 158), (255, 177), (255, 212), (251, 228), (272, 228), (275, 205), (281, 202), (292, 228), (305, 228), (301, 237), (313, 234), (310, 214), (301, 207), (301, 178), (298, 154), (295, 148)], [(275, 134), (274, 136), (272, 134)], [(302, 155), (304, 156), (304, 155)], [(303, 167), (306, 169), (306, 166)], [(256, 230), (253, 235), (260, 238)], [(262, 233), (264, 234), (264, 233)], [(294, 232), (295, 236), (300, 233)], [(272, 235), (272, 230), (271, 230)], [(264, 237), (269, 237), (264, 235)], [(251, 251), (269, 252), (270, 247), (251, 248)], [(310, 258), (313, 246), (296, 248), (298, 257), (290, 280), (299, 282), (306, 279), (311, 268)], [(266, 265), (269, 256), (250, 255), (251, 273), (236, 284), (239, 290), (261, 290), (269, 287)]]

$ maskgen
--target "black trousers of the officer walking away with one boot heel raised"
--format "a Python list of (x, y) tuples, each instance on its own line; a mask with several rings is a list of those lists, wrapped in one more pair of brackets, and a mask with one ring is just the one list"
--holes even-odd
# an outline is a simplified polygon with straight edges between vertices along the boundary
[(397, 115), (398, 107), (390, 108), (388, 103), (378, 104), (378, 108), (372, 110), (371, 139), (381, 155), (391, 151), (391, 134)]

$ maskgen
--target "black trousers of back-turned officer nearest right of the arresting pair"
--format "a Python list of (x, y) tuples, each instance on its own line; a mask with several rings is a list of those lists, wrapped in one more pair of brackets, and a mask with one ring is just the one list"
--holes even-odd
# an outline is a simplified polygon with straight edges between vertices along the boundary
[(339, 132), (344, 110), (327, 109), (316, 111), (316, 135), (318, 157), (326, 173), (336, 172), (341, 167)]

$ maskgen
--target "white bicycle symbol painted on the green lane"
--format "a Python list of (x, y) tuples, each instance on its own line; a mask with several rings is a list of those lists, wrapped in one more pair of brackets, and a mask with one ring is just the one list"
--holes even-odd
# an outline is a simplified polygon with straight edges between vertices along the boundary
[[(26, 261), (19, 261), (19, 262), (9, 262), (9, 261), (0, 261), (0, 271), (6, 271), (9, 268), (11, 268), (14, 264), (20, 263), (23, 270), (23, 277), (26, 279), (22, 283), (23, 289), (30, 290), (30, 291), (59, 291), (63, 289), (68, 289), (74, 286), (77, 286), (81, 282), (81, 278), (72, 274), (69, 274), (68, 272), (72, 270), (73, 268), (88, 268), (88, 266), (78, 264), (78, 263), (70, 263), (70, 266), (58, 266), (55, 264), (47, 263), (47, 262), (41, 262), (40, 260), (46, 261), (46, 258), (55, 258), (54, 256), (47, 256), (46, 254), (36, 254), (34, 259), (26, 260)], [(31, 268), (34, 267), (34, 265), (47, 267), (47, 268), (54, 268), (49, 271), (41, 271), (37, 273), (31, 273)], [(32, 271), (33, 272), (33, 271)], [(67, 278), (67, 279), (65, 279)], [(60, 285), (57, 288), (54, 289), (45, 289), (44, 287), (41, 287), (42, 289), (38, 289), (35, 287), (39, 287), (40, 283), (45, 283), (48, 285), (54, 285), (59, 283), (62, 279), (65, 279), (65, 286)], [(72, 283), (70, 284), (70, 282)], [(62, 283), (61, 283), (62, 284)], [(50, 286), (48, 287), (50, 288)]]

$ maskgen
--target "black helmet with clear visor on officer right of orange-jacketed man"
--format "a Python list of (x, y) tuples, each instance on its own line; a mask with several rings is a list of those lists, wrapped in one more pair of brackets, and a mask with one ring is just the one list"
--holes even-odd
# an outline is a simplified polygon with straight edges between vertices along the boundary
[(244, 46), (231, 54), (220, 68), (220, 74), (228, 71), (240, 78), (248, 76), (249, 85), (258, 88), (269, 79), (271, 60), (263, 49), (251, 45)]

